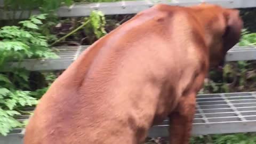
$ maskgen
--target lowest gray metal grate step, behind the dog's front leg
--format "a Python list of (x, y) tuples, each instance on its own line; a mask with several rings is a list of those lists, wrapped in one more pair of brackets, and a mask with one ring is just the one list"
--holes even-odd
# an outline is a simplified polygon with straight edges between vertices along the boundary
[[(200, 94), (193, 123), (193, 135), (256, 132), (256, 92)], [(33, 108), (26, 109), (33, 111)], [(25, 121), (28, 115), (16, 117)], [(168, 137), (169, 121), (153, 126), (149, 137)], [(0, 143), (22, 144), (22, 129), (15, 129)]]

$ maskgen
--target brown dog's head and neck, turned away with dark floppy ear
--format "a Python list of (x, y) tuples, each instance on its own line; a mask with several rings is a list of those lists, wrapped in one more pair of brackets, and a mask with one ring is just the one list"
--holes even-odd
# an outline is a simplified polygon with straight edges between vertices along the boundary
[(195, 6), (195, 10), (205, 27), (206, 43), (210, 48), (210, 68), (222, 67), (227, 51), (241, 37), (243, 21), (239, 11), (205, 3)]

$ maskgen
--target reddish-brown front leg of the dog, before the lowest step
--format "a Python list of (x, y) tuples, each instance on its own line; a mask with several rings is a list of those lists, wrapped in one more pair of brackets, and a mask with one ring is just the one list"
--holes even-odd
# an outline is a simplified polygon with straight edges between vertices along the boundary
[(170, 144), (188, 144), (196, 106), (196, 94), (183, 96), (170, 114)]

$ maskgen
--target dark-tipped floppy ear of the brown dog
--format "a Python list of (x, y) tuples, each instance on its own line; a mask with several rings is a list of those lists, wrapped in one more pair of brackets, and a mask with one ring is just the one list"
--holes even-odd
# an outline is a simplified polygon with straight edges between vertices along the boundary
[(224, 17), (226, 19), (227, 26), (223, 35), (223, 46), (225, 50), (229, 50), (239, 42), (243, 28), (243, 21), (239, 17), (239, 11), (234, 9), (226, 10), (224, 12)]

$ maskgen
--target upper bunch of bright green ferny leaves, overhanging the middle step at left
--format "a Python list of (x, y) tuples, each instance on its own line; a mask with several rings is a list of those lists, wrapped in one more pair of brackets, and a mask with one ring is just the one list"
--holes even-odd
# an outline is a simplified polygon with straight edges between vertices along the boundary
[(5, 26), (0, 29), (0, 66), (6, 61), (25, 58), (57, 58), (47, 44), (46, 37), (39, 33), (39, 25), (46, 14), (19, 22), (21, 26)]

